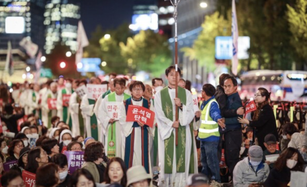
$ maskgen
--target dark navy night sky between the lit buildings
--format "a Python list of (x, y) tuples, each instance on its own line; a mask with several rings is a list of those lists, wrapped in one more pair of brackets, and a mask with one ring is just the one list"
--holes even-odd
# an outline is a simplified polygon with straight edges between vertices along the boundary
[(131, 23), (133, 0), (82, 0), (81, 20), (87, 37), (100, 25), (103, 30)]

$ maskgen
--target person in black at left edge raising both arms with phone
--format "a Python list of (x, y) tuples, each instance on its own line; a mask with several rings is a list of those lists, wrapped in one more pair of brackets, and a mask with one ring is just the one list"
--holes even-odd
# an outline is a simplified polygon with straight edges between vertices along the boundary
[[(17, 110), (16, 114), (13, 114), (14, 110)], [(24, 109), (19, 109), (19, 107), (13, 107), (11, 104), (6, 104), (3, 109), (3, 114), (0, 115), (1, 121), (5, 122), (7, 124), (7, 129), (12, 132), (17, 134), (18, 129), (17, 129), (17, 120), (20, 118), (24, 117), (25, 115), (25, 110)]]

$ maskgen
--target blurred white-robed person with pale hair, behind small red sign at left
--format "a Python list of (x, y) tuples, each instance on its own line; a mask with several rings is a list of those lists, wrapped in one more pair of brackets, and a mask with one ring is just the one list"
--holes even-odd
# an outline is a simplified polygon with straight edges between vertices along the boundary
[[(55, 103), (55, 109), (50, 109), (48, 106), (48, 99), (56, 99), (57, 98), (57, 83), (52, 82), (50, 84), (50, 89), (47, 90), (47, 92), (42, 96), (42, 110), (47, 113), (47, 115), (44, 117), (43, 123), (46, 127), (50, 128), (51, 125), (51, 118), (53, 116), (56, 116), (56, 103)], [(45, 123), (46, 122), (46, 123)]]

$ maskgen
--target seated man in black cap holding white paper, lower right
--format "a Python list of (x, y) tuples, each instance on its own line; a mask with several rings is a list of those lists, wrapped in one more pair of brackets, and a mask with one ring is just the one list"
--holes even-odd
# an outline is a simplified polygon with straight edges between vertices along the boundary
[[(268, 134), (264, 137), (264, 146), (266, 150), (263, 151), (263, 161), (265, 161), (270, 169), (274, 168), (274, 162), (279, 157), (280, 151), (276, 150), (277, 140), (274, 134)], [(269, 157), (272, 159), (269, 160)]]

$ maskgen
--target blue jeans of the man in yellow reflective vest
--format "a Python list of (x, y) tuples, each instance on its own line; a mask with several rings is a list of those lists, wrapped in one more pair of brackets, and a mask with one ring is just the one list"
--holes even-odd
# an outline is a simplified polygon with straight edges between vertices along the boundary
[(212, 180), (221, 182), (220, 162), (217, 157), (218, 145), (219, 141), (200, 141), (200, 162), (203, 166), (201, 173), (207, 176), (212, 174)]

